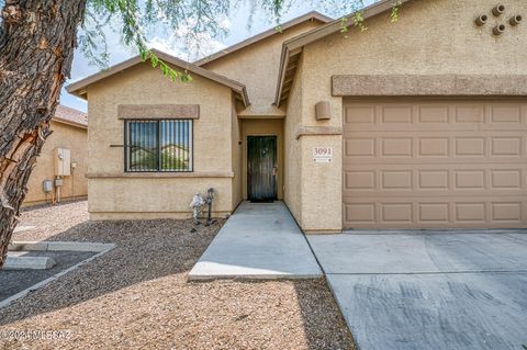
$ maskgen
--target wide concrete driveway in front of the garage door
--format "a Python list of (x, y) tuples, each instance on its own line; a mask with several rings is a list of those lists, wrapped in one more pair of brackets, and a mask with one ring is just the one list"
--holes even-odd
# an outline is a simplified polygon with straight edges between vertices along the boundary
[(359, 349), (527, 349), (527, 230), (307, 238)]

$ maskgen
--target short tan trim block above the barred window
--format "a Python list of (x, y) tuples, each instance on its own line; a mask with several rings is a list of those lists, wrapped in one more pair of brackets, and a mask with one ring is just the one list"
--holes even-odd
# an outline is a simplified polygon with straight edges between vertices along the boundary
[(117, 105), (120, 120), (133, 118), (186, 118), (200, 117), (199, 104), (120, 104)]

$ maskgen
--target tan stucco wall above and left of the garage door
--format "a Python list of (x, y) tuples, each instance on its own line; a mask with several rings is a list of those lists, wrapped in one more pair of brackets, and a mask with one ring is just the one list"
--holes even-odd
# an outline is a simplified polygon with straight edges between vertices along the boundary
[[(368, 20), (366, 32), (351, 29), (347, 38), (337, 33), (305, 46), (302, 87), (293, 88), (293, 94), (302, 95), (301, 124), (343, 125), (341, 98), (332, 97), (334, 75), (525, 75), (527, 50), (518, 48), (527, 45), (527, 26), (523, 23), (512, 27), (507, 21), (513, 14), (527, 16), (527, 5), (524, 0), (507, 1), (506, 15), (496, 20), (490, 13), (495, 4), (493, 0), (416, 0), (403, 7), (396, 23), (390, 23), (388, 14), (383, 14)], [(483, 13), (489, 14), (491, 24), (479, 29), (474, 19)], [(497, 21), (507, 23), (501, 37), (491, 35)], [(288, 118), (299, 113), (293, 94)], [(314, 105), (318, 101), (330, 102), (330, 121), (315, 120)], [(302, 178), (302, 227), (338, 230), (341, 162), (313, 165), (309, 161), (313, 146), (333, 146), (338, 160), (341, 136), (302, 137), (302, 173), (310, 174)]]

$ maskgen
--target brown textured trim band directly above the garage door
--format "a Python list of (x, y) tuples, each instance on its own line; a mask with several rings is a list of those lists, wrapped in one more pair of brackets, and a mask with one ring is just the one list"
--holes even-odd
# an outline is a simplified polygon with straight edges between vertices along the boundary
[(334, 97), (527, 95), (525, 75), (333, 76)]

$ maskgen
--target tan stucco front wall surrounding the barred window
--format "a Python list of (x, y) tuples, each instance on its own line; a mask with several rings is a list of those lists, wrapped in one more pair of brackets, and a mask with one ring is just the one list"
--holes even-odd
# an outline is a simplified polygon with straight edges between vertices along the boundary
[[(216, 190), (215, 215), (233, 210), (232, 92), (193, 78), (188, 84), (171, 82), (159, 69), (142, 64), (89, 87), (92, 218), (189, 217), (192, 196), (211, 187)], [(125, 173), (124, 121), (117, 118), (117, 105), (164, 103), (200, 105), (200, 117), (193, 121), (193, 172)]]

